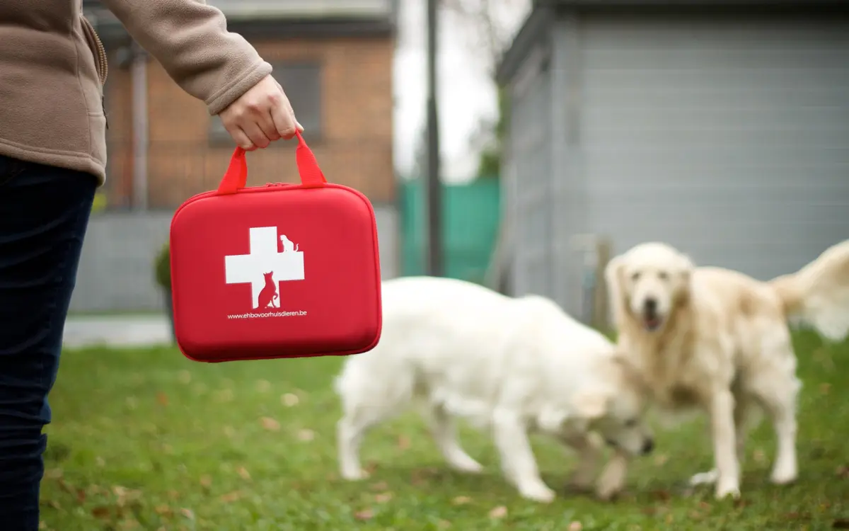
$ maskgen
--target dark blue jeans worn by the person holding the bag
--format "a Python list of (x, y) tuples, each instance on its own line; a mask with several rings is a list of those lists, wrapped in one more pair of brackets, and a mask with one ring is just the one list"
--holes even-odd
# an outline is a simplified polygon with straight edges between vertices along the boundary
[(36, 531), (48, 393), (92, 209), (92, 175), (0, 155), (0, 528)]

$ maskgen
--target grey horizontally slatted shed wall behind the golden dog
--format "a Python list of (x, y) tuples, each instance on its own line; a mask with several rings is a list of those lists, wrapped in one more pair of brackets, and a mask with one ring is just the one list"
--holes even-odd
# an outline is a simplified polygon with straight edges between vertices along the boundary
[(609, 15), (581, 29), (589, 226), (758, 278), (849, 238), (849, 23)]

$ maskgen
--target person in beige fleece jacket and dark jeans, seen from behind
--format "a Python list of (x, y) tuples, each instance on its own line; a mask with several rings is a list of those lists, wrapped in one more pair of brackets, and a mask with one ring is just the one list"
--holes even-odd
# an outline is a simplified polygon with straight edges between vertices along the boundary
[[(303, 128), (272, 67), (204, 0), (101, 0), (236, 144)], [(48, 393), (95, 189), (108, 65), (81, 0), (0, 2), (0, 522), (34, 531)]]

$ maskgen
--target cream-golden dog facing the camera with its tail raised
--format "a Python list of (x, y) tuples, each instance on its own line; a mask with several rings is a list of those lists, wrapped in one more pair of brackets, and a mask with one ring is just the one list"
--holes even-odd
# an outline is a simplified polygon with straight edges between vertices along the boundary
[(739, 497), (740, 462), (753, 414), (765, 410), (778, 440), (773, 483), (796, 479), (796, 356), (789, 319), (829, 339), (849, 330), (849, 240), (796, 274), (761, 282), (695, 268), (661, 243), (614, 258), (605, 277), (622, 352), (633, 355), (655, 404), (706, 410), (716, 468), (692, 483)]

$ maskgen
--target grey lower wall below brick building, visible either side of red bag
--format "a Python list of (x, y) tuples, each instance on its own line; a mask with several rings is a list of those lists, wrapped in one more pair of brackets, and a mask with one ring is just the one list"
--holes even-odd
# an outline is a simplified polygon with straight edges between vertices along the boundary
[[(398, 274), (398, 215), (375, 206), (383, 278)], [(109, 212), (92, 217), (82, 249), (71, 313), (159, 312), (153, 261), (168, 239), (172, 212)]]

